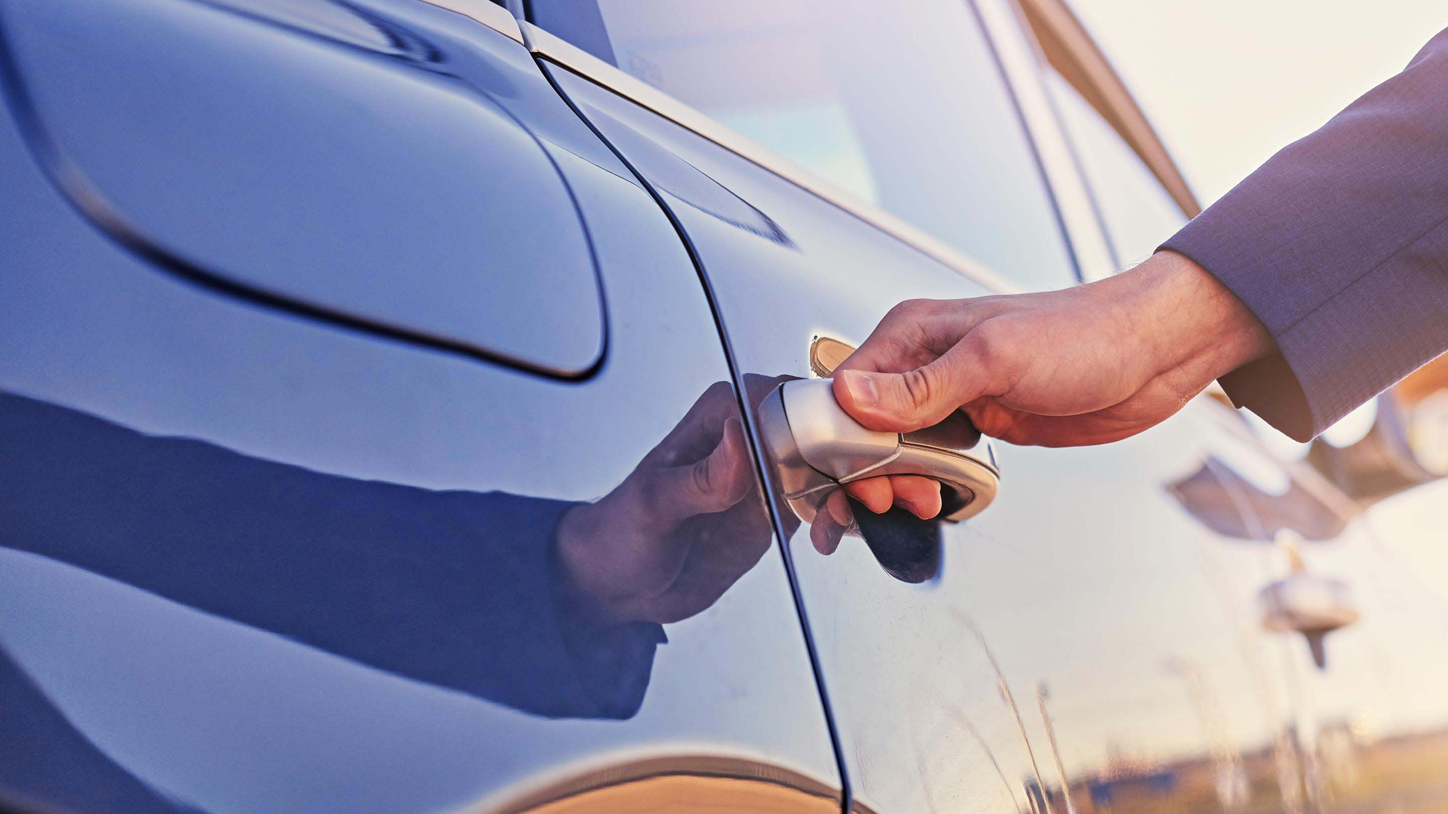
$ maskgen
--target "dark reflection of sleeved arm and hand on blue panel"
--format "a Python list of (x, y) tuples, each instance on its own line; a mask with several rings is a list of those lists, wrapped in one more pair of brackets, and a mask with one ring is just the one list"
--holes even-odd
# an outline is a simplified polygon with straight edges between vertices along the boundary
[(3, 393), (0, 459), (6, 547), (546, 716), (633, 714), (659, 624), (773, 540), (724, 382), (592, 504), (329, 475)]

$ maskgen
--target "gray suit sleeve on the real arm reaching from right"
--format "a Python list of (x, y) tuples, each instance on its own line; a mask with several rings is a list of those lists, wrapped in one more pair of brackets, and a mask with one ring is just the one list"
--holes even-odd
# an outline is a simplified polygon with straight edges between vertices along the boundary
[(1271, 332), (1221, 384), (1297, 440), (1448, 349), (1448, 30), (1163, 248)]

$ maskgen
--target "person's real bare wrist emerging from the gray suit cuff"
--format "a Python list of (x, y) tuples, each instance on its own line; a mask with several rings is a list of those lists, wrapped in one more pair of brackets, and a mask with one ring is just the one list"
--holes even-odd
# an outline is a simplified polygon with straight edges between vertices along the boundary
[(1128, 274), (1140, 274), (1157, 369), (1206, 387), (1261, 359), (1276, 343), (1261, 322), (1211, 272), (1184, 255), (1161, 251)]

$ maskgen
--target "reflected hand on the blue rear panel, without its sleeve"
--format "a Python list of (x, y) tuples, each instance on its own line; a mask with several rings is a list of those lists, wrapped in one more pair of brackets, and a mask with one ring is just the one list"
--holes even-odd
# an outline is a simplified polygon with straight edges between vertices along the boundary
[(773, 540), (754, 484), (734, 388), (714, 384), (618, 487), (563, 514), (571, 600), (599, 624), (670, 623), (710, 607)]

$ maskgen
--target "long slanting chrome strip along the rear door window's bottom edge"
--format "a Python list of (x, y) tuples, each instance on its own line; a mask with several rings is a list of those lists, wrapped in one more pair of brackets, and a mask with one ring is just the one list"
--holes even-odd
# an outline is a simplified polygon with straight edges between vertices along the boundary
[(665, 119), (669, 119), (670, 122), (686, 127), (699, 136), (704, 136), (746, 161), (763, 167), (775, 175), (802, 187), (804, 190), (843, 209), (844, 211), (849, 211), (870, 226), (875, 226), (876, 229), (902, 240), (937, 262), (950, 267), (970, 280), (975, 280), (993, 293), (1009, 294), (1021, 291), (1019, 285), (1011, 282), (1006, 277), (983, 262), (964, 255), (956, 248), (947, 245), (944, 240), (927, 235), (921, 229), (888, 211), (860, 201), (828, 181), (807, 172), (788, 158), (783, 158), (769, 148), (736, 133), (710, 116), (689, 107), (653, 85), (634, 78), (633, 75), (534, 26), (533, 23), (518, 20), (518, 28), (523, 32), (523, 43), (527, 45), (529, 51), (537, 56), (544, 58), (562, 68), (568, 68), (569, 71), (573, 71), (575, 74), (637, 104), (641, 104), (643, 107), (647, 107), (659, 116), (663, 116)]

